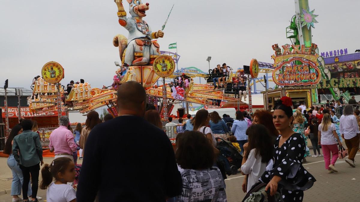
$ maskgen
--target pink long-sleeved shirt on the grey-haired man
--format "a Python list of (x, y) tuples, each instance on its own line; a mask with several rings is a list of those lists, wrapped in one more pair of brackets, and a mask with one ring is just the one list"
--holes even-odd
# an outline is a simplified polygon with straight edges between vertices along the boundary
[(68, 153), (72, 155), (76, 151), (74, 136), (67, 127), (60, 125), (50, 134), (49, 148), (54, 149), (55, 154)]

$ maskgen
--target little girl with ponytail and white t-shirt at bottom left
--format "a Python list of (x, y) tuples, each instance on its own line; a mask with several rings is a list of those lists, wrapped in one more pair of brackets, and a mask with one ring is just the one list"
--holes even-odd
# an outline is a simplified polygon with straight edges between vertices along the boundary
[[(40, 189), (48, 189), (48, 202), (76, 202), (76, 192), (68, 182), (75, 180), (75, 165), (71, 159), (60, 157), (41, 169)], [(53, 182), (53, 178), (55, 181)]]

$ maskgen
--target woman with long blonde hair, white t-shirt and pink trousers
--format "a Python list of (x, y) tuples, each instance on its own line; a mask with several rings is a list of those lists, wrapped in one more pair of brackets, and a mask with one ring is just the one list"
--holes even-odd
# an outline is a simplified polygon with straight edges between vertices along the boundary
[[(337, 172), (335, 168), (335, 162), (338, 158), (339, 149), (337, 147), (337, 142), (342, 146), (339, 136), (336, 133), (336, 127), (331, 123), (330, 114), (324, 113), (323, 120), (318, 128), (319, 132), (319, 143), (323, 149), (325, 169), (328, 170), (328, 173)], [(336, 141), (337, 140), (337, 141)], [(332, 158), (330, 162), (330, 152), (332, 153)]]

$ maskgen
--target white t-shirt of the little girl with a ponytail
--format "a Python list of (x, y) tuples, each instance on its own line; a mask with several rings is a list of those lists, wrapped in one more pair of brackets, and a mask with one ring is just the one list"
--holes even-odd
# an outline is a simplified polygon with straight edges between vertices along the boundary
[(68, 184), (54, 184), (52, 182), (46, 191), (48, 202), (69, 202), (76, 199), (75, 189)]

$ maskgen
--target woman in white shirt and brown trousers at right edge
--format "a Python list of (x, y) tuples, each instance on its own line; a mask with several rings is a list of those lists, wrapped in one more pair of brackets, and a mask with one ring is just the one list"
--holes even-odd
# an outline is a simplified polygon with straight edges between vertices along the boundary
[(340, 117), (340, 134), (345, 139), (345, 144), (349, 152), (349, 157), (345, 160), (350, 166), (355, 167), (354, 159), (357, 150), (359, 150), (359, 125), (357, 125), (352, 105), (344, 107), (343, 114)]

